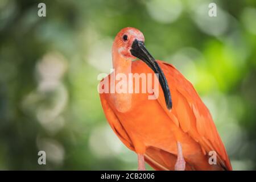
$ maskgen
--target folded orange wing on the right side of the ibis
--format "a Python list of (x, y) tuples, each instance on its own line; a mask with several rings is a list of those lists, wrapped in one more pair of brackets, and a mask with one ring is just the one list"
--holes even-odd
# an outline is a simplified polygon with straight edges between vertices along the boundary
[(177, 126), (180, 126), (185, 133), (200, 143), (204, 154), (211, 150), (216, 151), (218, 162), (224, 168), (231, 170), (224, 144), (218, 135), (209, 110), (201, 101), (193, 85), (173, 65), (163, 61), (158, 61), (158, 63), (170, 86), (174, 106), (171, 111), (167, 111), (163, 93), (159, 93), (160, 105), (173, 122), (176, 123), (176, 119), (173, 118), (177, 118), (179, 122), (179, 125), (176, 123)]

